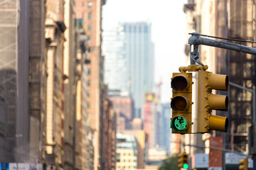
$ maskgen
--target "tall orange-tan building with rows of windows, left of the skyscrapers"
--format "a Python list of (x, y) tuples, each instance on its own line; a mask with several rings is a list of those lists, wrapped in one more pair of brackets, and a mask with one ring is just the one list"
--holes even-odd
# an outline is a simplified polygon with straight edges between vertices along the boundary
[(82, 26), (88, 38), (88, 54), (90, 64), (88, 64), (87, 81), (87, 113), (90, 127), (94, 130), (94, 169), (100, 168), (100, 140), (102, 116), (102, 91), (103, 85), (103, 62), (104, 57), (101, 52), (102, 44), (102, 6), (105, 0), (75, 0), (75, 18), (82, 19)]

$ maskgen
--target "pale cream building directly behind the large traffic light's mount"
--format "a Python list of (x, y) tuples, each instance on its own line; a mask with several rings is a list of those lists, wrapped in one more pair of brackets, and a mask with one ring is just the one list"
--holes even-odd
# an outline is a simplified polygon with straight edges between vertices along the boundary
[[(187, 21), (187, 35), (188, 33), (202, 33), (205, 35), (213, 35), (215, 36), (215, 1), (205, 1), (205, 0), (195, 0), (188, 1), (188, 4), (184, 5), (184, 12), (186, 13), (186, 21)], [(196, 24), (198, 23), (198, 24)], [(189, 55), (189, 45), (188, 38), (191, 35), (187, 36), (185, 53), (187, 58), (187, 65), (190, 64), (190, 55)], [(193, 46), (191, 48), (193, 50)], [(200, 48), (200, 60), (204, 64), (208, 65), (208, 71), (215, 73), (215, 48), (209, 47), (206, 45), (201, 45)], [(193, 91), (198, 91), (198, 74), (193, 72)], [(197, 93), (193, 93), (192, 96), (192, 113), (197, 113)], [(213, 111), (215, 114), (215, 111)], [(193, 127), (192, 131), (196, 132), (197, 126), (197, 114), (192, 114)], [(207, 140), (210, 137), (209, 134), (191, 134), (184, 135), (182, 137), (182, 141), (186, 144), (195, 144), (195, 145), (205, 145), (207, 144)], [(183, 149), (182, 149), (183, 150)], [(204, 149), (196, 148), (196, 147), (185, 147), (187, 153), (201, 153), (205, 152)]]

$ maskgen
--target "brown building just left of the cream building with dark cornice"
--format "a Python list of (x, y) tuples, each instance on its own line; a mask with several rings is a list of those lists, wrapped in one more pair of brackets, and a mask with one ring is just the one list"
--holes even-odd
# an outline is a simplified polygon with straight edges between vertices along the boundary
[[(35, 158), (37, 162), (46, 162), (47, 49), (50, 45), (50, 39), (45, 38), (46, 6), (44, 1), (23, 1), (20, 6), (20, 18), (23, 18), (23, 21), (20, 21), (19, 27), (21, 27), (20, 35), (23, 37), (20, 40), (19, 49), (21, 49), (25, 58), (27, 55), (26, 50), (28, 49), (26, 47), (27, 42), (24, 42), (24, 40), (29, 41), (28, 72), (21, 72), (23, 77), (28, 74), (29, 82), (28, 116), (30, 118), (29, 122), (26, 123), (29, 125), (29, 155), (31, 157), (29, 162), (34, 162)], [(26, 10), (28, 8), (30, 8), (29, 15), (27, 15), (28, 11)], [(28, 23), (29, 30), (27, 28)], [(25, 64), (26, 62), (23, 58), (22, 63)], [(26, 65), (23, 65), (22, 69), (24, 70), (26, 67)], [(23, 84), (26, 83), (26, 79), (23, 79)], [(26, 101), (25, 98), (22, 100)], [(26, 118), (26, 116), (21, 115), (23, 118)], [(24, 126), (25, 122), (23, 120), (17, 123), (21, 123)], [(21, 125), (18, 125), (17, 128), (21, 127)], [(20, 128), (18, 129), (20, 130)], [(18, 132), (18, 134), (24, 134), (24, 131)], [(16, 145), (18, 148), (22, 146), (20, 143), (22, 138), (17, 138)], [(16, 162), (28, 162), (28, 159), (21, 161), (22, 157), (16, 159)]]

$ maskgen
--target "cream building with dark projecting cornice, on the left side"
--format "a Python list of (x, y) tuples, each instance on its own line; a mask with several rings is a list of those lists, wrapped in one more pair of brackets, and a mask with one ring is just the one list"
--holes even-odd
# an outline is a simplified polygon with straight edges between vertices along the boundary
[[(64, 2), (46, 2), (47, 46), (47, 89), (46, 89), (46, 164), (63, 166), (64, 152), (64, 89), (63, 89), (63, 50)], [(72, 154), (71, 154), (72, 155)]]

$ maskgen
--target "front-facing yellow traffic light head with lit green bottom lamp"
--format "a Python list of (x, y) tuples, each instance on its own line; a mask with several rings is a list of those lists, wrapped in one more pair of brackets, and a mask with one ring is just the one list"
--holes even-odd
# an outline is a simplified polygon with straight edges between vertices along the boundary
[(192, 73), (174, 73), (171, 79), (173, 97), (171, 98), (173, 133), (191, 133)]

